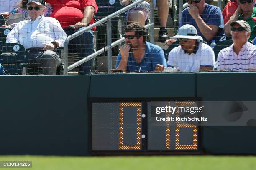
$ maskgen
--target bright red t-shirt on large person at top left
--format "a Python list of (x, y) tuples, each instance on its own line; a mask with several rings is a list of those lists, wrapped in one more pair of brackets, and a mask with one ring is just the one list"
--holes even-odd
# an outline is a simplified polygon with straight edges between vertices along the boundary
[[(68, 28), (69, 25), (74, 25), (80, 22), (84, 15), (84, 7), (93, 6), (95, 13), (98, 6), (95, 0), (46, 0), (51, 4), (53, 11), (49, 17), (56, 18), (61, 23), (62, 28)], [(89, 24), (94, 23), (94, 18)]]

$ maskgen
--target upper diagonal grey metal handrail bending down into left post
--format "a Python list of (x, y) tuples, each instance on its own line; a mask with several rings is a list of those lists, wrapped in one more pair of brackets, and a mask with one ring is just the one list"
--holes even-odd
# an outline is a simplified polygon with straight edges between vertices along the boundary
[[(88, 30), (90, 30), (90, 29), (92, 29), (92, 28), (94, 28), (94, 27), (96, 27), (96, 26), (98, 26), (98, 25), (100, 25), (100, 24), (102, 24), (102, 23), (105, 23), (107, 20), (110, 20), (110, 19), (116, 17), (117, 15), (119, 15), (119, 14), (121, 14), (121, 13), (124, 13), (126, 10), (130, 10), (130, 9), (133, 8), (134, 6), (140, 4), (141, 2), (144, 2), (144, 1), (145, 1), (145, 0), (138, 0), (138, 1), (136, 1), (136, 2), (133, 2), (132, 4), (130, 4), (130, 5), (126, 6), (126, 7), (124, 7), (124, 8), (122, 8), (122, 9), (116, 11), (115, 13), (110, 14), (110, 15), (108, 15), (108, 16), (105, 17), (105, 18), (102, 18), (101, 20), (97, 21), (96, 23), (93, 23), (92, 25), (89, 25), (88, 27), (85, 27), (85, 28), (83, 28), (82, 30), (77, 31), (77, 32), (75, 32), (74, 34), (69, 35), (69, 36), (66, 38), (65, 42), (64, 42), (64, 54), (63, 54), (63, 56), (61, 56), (61, 59), (62, 59), (62, 62), (63, 62), (63, 66), (64, 66), (63, 74), (64, 74), (64, 75), (67, 75), (67, 72), (68, 72), (68, 61), (67, 61), (67, 59), (68, 59), (68, 46), (69, 46), (69, 41), (70, 41), (70, 40), (74, 39), (75, 37), (78, 37), (79, 35), (82, 35), (84, 32), (86, 32), (86, 31), (88, 31)], [(151, 3), (152, 3), (152, 2), (151, 2)], [(154, 13), (154, 11), (153, 11), (153, 13)], [(151, 35), (151, 36), (152, 36), (152, 35)], [(154, 35), (153, 35), (153, 36), (154, 36)], [(96, 53), (97, 53), (97, 52), (96, 52)], [(99, 54), (99, 55), (100, 55), (100, 54)], [(91, 56), (91, 55), (90, 55), (90, 56)], [(89, 57), (89, 56), (88, 56), (88, 57)], [(95, 56), (95, 57), (96, 57), (96, 56)], [(86, 57), (86, 58), (87, 58), (87, 57)], [(79, 60), (79, 61), (83, 61), (83, 60)], [(79, 62), (79, 63), (80, 63), (80, 62)], [(82, 63), (84, 63), (84, 62), (82, 62)], [(79, 65), (81, 65), (82, 63), (80, 63)], [(73, 64), (73, 65), (74, 65), (74, 64)]]

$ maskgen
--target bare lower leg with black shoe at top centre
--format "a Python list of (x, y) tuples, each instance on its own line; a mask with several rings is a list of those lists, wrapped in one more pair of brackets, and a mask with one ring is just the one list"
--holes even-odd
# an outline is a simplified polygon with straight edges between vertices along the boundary
[(169, 39), (166, 24), (169, 13), (169, 0), (153, 0), (154, 7), (157, 7), (158, 20), (160, 24), (160, 30), (158, 32), (158, 37), (160, 42), (164, 42)]

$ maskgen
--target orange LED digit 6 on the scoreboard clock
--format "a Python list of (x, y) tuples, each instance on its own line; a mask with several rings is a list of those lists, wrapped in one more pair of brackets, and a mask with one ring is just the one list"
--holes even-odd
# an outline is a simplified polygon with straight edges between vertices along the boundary
[[(195, 102), (177, 102), (176, 103), (176, 107), (179, 106), (192, 106), (194, 105)], [(177, 110), (176, 112), (176, 116), (179, 116), (179, 111)], [(177, 150), (181, 150), (181, 149), (187, 149), (187, 150), (194, 150), (197, 149), (197, 126), (193, 123), (189, 123), (189, 124), (182, 124), (179, 123), (179, 121), (176, 121), (176, 128), (175, 128), (175, 149)], [(181, 128), (192, 128), (193, 129), (193, 145), (180, 145), (179, 144), (179, 130)]]

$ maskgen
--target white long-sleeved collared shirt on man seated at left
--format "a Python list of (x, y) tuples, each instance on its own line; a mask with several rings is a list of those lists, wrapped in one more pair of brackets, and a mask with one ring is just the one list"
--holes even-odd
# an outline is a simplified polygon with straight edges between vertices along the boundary
[(6, 37), (6, 42), (20, 43), (25, 49), (38, 47), (53, 41), (64, 46), (67, 35), (58, 20), (51, 17), (39, 16), (36, 20), (20, 21)]

